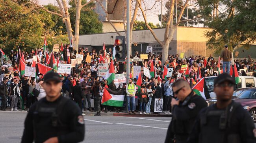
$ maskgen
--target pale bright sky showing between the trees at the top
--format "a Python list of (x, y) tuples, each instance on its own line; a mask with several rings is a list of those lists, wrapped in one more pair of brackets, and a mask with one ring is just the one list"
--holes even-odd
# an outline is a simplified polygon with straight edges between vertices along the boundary
[[(146, 16), (147, 16), (147, 21), (148, 22), (152, 22), (154, 25), (156, 24), (160, 24), (161, 22), (158, 20), (158, 14), (161, 14), (161, 0), (158, 0), (159, 2), (157, 2), (155, 5), (156, 0), (145, 0), (145, 5), (147, 9), (150, 9), (151, 7), (153, 7), (150, 11), (147, 11)], [(163, 0), (163, 14), (166, 12), (166, 9), (164, 7), (165, 5), (165, 0)], [(56, 0), (39, 0), (39, 4), (41, 5), (47, 5), (47, 4), (54, 4), (57, 5)], [(139, 21), (144, 21), (144, 18), (141, 14), (141, 11), (139, 9), (139, 16), (137, 16), (137, 20)]]

